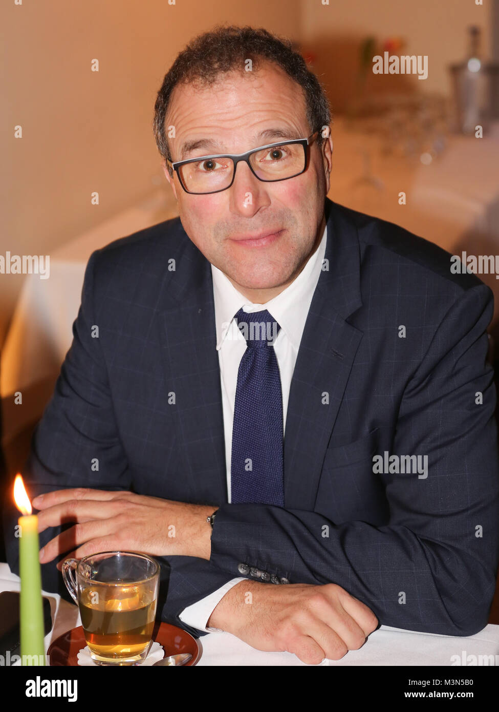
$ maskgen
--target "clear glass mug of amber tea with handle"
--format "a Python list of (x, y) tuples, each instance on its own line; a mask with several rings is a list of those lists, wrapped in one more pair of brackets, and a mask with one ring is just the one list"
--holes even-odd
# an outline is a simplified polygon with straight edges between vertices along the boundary
[(66, 559), (61, 570), (95, 664), (133, 665), (145, 659), (156, 617), (158, 562), (146, 554), (105, 551)]

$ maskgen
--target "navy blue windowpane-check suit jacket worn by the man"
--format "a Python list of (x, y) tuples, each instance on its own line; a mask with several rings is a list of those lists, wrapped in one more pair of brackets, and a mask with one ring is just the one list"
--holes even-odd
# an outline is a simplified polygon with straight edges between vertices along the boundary
[[(157, 557), (162, 619), (194, 634), (179, 612), (241, 575), (241, 563), (290, 583), (334, 582), (380, 624), (474, 634), (487, 624), (499, 560), (485, 360), (493, 295), (399, 226), (329, 199), (325, 214), (328, 262), (290, 387), (284, 508), (227, 503), (211, 268), (179, 218), (90, 256), (73, 344), (33, 436), (28, 491), (125, 489), (219, 506), (209, 561)], [(385, 451), (426, 455), (428, 476), (375, 473)], [(19, 572), (16, 517), (7, 504)], [(42, 570), (46, 590), (68, 597), (56, 561)]]

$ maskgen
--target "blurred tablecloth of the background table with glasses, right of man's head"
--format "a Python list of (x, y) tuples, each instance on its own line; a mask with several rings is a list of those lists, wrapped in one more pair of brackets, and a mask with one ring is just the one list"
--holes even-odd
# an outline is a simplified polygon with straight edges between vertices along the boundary
[[(381, 137), (352, 130), (341, 118), (331, 135), (332, 200), (401, 225), (450, 252), (471, 240), (473, 253), (475, 235), (499, 246), (499, 122), (482, 139), (448, 135), (445, 150), (429, 165), (417, 156), (384, 154)], [(366, 159), (382, 190), (359, 181)], [(399, 204), (399, 192), (406, 194), (406, 204)]]

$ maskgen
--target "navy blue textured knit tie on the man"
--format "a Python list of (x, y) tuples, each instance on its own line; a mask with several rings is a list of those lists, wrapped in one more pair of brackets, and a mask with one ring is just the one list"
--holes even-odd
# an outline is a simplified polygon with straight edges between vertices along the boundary
[(272, 342), (280, 326), (266, 309), (236, 314), (246, 338), (232, 429), (231, 502), (284, 506), (283, 394)]

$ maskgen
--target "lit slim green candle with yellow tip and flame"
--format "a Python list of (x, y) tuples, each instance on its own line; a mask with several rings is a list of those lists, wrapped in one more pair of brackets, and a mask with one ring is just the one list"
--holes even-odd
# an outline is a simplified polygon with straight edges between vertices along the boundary
[[(21, 577), (21, 665), (44, 665), (43, 601), (41, 597), (41, 566), (38, 559), (38, 517), (31, 514), (23, 478), (14, 480), (14, 502), (24, 515), (19, 517), (19, 575)], [(26, 657), (28, 656), (28, 657)], [(35, 656), (35, 657), (33, 657)]]

